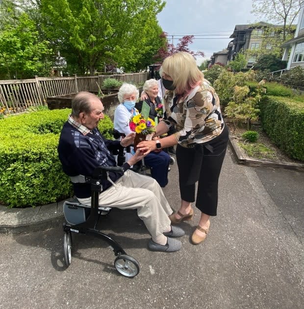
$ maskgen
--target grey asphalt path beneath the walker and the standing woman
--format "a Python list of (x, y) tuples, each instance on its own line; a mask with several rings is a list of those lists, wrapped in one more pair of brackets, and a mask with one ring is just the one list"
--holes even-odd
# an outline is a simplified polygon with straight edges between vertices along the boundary
[[(164, 191), (177, 209), (177, 167), (169, 174)], [(229, 150), (210, 234), (190, 244), (195, 210), (194, 220), (181, 224), (178, 253), (148, 251), (135, 212), (113, 210), (102, 223), (139, 261), (133, 279), (117, 273), (104, 243), (83, 235), (74, 238), (65, 269), (61, 225), (0, 234), (0, 308), (303, 308), (303, 184), (304, 173), (237, 165)]]

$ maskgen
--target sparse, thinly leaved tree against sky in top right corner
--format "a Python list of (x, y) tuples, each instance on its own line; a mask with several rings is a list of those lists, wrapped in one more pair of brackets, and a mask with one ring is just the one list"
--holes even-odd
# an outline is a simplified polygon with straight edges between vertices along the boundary
[(273, 24), (282, 24), (282, 42), (298, 16), (303, 0), (253, 0), (252, 13)]

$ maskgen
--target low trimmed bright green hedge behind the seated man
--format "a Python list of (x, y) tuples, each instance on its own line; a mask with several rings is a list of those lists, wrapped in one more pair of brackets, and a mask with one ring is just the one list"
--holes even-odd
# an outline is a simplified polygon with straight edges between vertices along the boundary
[[(0, 204), (30, 207), (72, 196), (57, 145), (70, 109), (30, 112), (0, 119)], [(99, 129), (111, 138), (109, 117)]]

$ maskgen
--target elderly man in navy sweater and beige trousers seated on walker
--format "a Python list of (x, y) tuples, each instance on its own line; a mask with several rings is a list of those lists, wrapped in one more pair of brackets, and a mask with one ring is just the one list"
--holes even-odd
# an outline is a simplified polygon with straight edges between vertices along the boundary
[[(103, 105), (99, 97), (89, 92), (79, 92), (72, 100), (72, 113), (64, 124), (58, 145), (58, 155), (64, 172), (69, 176), (92, 176), (99, 166), (116, 166), (111, 150), (133, 143), (134, 133), (121, 141), (107, 140), (97, 125), (104, 118)], [(181, 242), (172, 237), (184, 235), (177, 226), (171, 226), (169, 215), (172, 209), (158, 183), (151, 177), (129, 170), (130, 166), (143, 158), (143, 152), (136, 153), (123, 165), (125, 173), (110, 172), (103, 183), (104, 191), (99, 196), (103, 207), (137, 209), (152, 239), (148, 248), (152, 251), (176, 252)], [(73, 183), (77, 199), (91, 205), (90, 185)]]

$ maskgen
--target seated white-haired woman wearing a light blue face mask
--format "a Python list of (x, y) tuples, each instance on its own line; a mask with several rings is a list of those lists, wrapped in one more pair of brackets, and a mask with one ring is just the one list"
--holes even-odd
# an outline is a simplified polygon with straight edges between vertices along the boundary
[[(134, 115), (138, 114), (135, 108), (135, 102), (139, 97), (138, 89), (132, 85), (124, 83), (118, 91), (119, 106), (114, 113), (114, 129), (125, 134), (131, 133), (129, 120)], [(131, 152), (134, 150), (131, 149)], [(145, 157), (145, 165), (151, 168), (152, 177), (158, 182), (161, 187), (168, 184), (168, 168), (170, 156), (164, 151), (152, 151)]]

